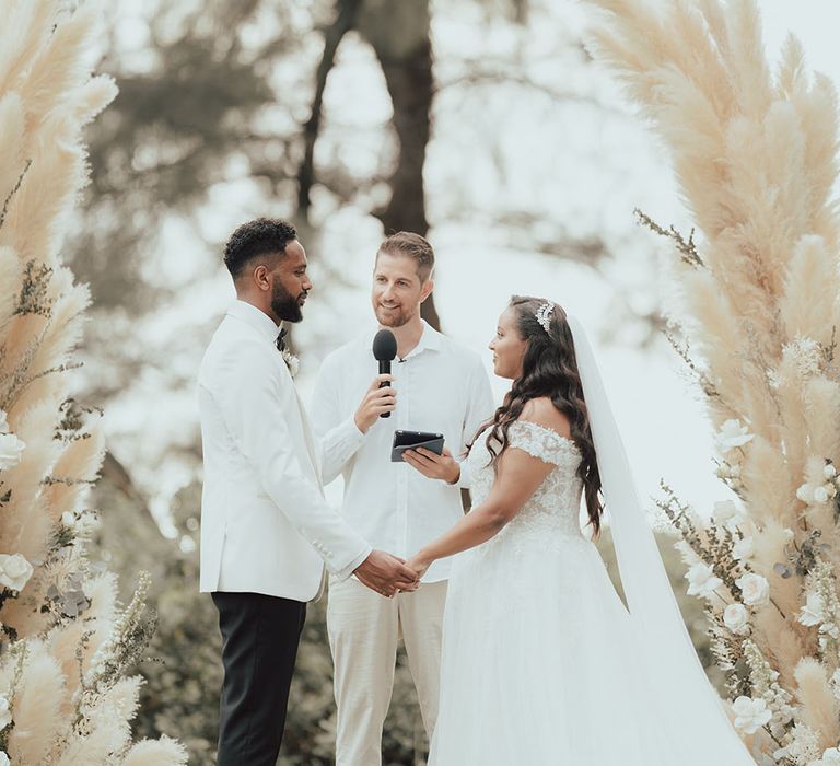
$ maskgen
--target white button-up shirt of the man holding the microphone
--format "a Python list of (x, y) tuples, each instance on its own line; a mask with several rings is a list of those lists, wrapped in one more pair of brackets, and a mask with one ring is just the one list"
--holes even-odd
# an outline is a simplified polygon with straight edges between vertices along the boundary
[[(455, 485), (427, 478), (407, 463), (390, 462), (396, 430), (443, 433), (462, 460), (479, 426), (493, 414), (490, 382), (479, 356), (424, 324), (418, 345), (395, 359), (397, 406), (362, 433), (353, 420), (378, 372), (375, 329), (332, 351), (318, 373), (312, 414), (322, 439), (324, 481), (345, 478), (342, 512), (375, 548), (408, 557), (446, 532), (463, 515), (460, 487), (469, 486), (466, 464)], [(424, 582), (448, 578), (450, 559), (435, 561)]]

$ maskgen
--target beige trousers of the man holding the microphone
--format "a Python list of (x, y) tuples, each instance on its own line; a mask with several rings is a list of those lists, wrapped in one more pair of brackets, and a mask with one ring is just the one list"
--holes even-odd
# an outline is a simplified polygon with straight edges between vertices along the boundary
[(446, 581), (385, 599), (355, 578), (330, 580), (327, 632), (338, 705), (336, 766), (380, 766), (382, 727), (402, 637), (430, 741), (438, 720)]

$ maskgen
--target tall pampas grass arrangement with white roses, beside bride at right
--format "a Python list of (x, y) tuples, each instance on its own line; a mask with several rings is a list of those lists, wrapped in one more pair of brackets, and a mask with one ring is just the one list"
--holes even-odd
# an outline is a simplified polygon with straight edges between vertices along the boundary
[[(769, 589), (737, 631), (722, 613), (743, 594), (718, 589), (713, 651), (732, 697), (773, 712), (744, 736), (757, 761), (828, 763), (820, 754), (840, 745), (837, 94), (795, 37), (771, 70), (755, 0), (588, 1), (591, 49), (658, 134), (696, 227), (692, 249), (639, 213), (677, 243), (673, 340), (707, 394), (719, 476), (740, 508), (726, 529), (750, 538), (747, 553), (718, 549), (707, 564)], [(689, 554), (725, 525), (695, 523), (680, 527)]]

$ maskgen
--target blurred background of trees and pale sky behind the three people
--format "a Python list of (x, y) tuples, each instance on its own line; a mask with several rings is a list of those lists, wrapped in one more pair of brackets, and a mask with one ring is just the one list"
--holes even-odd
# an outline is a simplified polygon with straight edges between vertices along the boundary
[[(838, 81), (836, 3), (759, 4), (771, 59), (790, 30)], [(586, 54), (586, 23), (571, 0), (108, 3), (96, 55), (120, 93), (89, 131), (93, 181), (68, 258), (94, 297), (77, 396), (104, 408), (109, 448), (94, 557), (126, 594), (149, 570), (160, 613), (139, 733), (214, 763), (220, 637), (197, 592), (194, 381), (233, 299), (223, 243), (247, 219), (289, 219), (310, 257), (315, 289), (292, 337), (304, 398), (323, 357), (373, 322), (380, 240), (410, 230), (438, 258), (428, 321), (483, 350), (511, 293), (558, 301), (600, 350), (641, 496), (653, 508), (665, 479), (701, 514), (727, 498), (700, 397), (662, 334), (675, 256), (633, 210), (690, 224), (667, 156)], [(602, 547), (614, 570), (608, 535)], [(707, 659), (700, 602), (681, 605)], [(279, 763), (332, 763), (330, 674), (320, 602)], [(400, 658), (383, 763), (422, 764), (424, 748)]]

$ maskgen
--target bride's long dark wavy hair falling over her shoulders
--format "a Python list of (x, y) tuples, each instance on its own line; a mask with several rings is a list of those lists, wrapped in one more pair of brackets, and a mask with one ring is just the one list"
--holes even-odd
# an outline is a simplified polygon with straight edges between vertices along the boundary
[[(537, 321), (537, 311), (546, 303), (553, 306), (548, 332)], [(502, 406), (495, 410), (492, 420), (480, 429), (479, 434), (491, 429), (487, 444), (491, 463), (495, 467), (497, 461), (510, 444), (508, 431), (520, 418), (525, 405), (530, 399), (548, 396), (555, 407), (569, 419), (571, 440), (581, 453), (578, 476), (583, 484), (590, 524), (597, 536), (604, 511), (599, 496), (600, 474), (581, 375), (578, 372), (574, 340), (565, 312), (557, 303), (523, 295), (513, 295), (510, 307), (516, 314), (518, 335), (527, 344), (522, 360), (522, 374), (513, 382)], [(470, 448), (475, 442), (474, 439)], [(501, 448), (497, 449), (497, 445)]]

